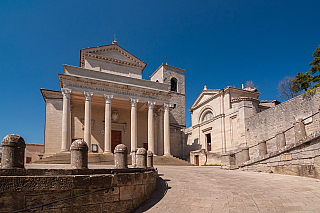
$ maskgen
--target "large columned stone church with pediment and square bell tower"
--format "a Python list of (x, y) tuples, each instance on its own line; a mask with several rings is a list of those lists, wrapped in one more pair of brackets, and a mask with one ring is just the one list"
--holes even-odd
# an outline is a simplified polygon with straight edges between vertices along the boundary
[(41, 89), (46, 102), (45, 155), (70, 151), (84, 139), (92, 153), (133, 151), (182, 157), (185, 70), (162, 64), (142, 79), (146, 63), (110, 45), (80, 50), (80, 66), (63, 65), (61, 91)]

